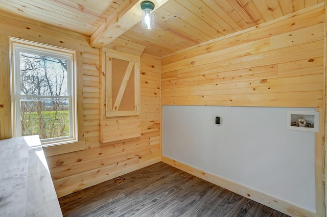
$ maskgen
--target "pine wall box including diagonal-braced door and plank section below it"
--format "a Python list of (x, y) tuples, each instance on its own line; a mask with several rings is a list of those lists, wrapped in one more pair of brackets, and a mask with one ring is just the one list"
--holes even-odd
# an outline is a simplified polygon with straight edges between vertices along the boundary
[(103, 143), (141, 136), (139, 66), (138, 56), (107, 48), (100, 50)]

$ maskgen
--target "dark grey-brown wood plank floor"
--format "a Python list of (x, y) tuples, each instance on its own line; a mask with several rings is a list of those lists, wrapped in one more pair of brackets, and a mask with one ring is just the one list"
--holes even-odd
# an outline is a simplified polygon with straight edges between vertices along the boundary
[(288, 216), (163, 162), (59, 198), (64, 216)]

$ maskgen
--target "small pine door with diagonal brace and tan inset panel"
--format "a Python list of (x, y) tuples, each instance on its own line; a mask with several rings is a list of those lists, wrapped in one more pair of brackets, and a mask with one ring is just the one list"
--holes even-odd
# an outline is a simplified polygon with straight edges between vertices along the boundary
[(105, 50), (106, 117), (140, 113), (139, 57)]

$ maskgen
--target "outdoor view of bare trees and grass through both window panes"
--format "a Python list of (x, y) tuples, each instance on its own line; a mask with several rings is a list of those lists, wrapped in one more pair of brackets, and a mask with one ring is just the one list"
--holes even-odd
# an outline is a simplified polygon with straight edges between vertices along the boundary
[(67, 60), (28, 52), (19, 58), (21, 135), (68, 136)]

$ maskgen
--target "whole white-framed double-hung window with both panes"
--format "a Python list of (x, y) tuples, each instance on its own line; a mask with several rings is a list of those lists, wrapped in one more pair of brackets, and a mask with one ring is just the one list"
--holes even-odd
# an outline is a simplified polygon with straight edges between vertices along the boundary
[(10, 38), (14, 137), (77, 142), (76, 51)]

